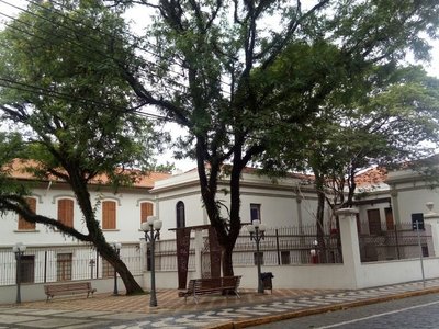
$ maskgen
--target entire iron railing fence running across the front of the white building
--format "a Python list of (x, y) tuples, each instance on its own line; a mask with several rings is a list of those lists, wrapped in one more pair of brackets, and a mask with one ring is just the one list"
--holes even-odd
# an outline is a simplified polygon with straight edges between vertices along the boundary
[[(434, 256), (431, 227), (413, 230), (412, 223), (389, 226), (382, 223), (375, 234), (369, 234), (369, 223), (359, 224), (359, 243), (362, 262), (384, 261)], [(317, 236), (316, 225), (302, 227), (268, 228), (260, 241), (260, 262), (264, 265), (292, 265), (308, 263), (341, 263), (341, 246), (336, 229), (325, 226)], [(367, 234), (364, 234), (367, 232)], [(192, 237), (188, 270), (195, 270), (195, 239)], [(207, 237), (204, 237), (207, 243)], [(156, 270), (177, 271), (176, 240), (156, 242)], [(420, 246), (420, 247), (419, 247)], [(209, 259), (202, 250), (202, 259)], [(233, 262), (235, 265), (257, 263), (256, 243), (245, 228), (236, 241)], [(150, 258), (140, 251), (139, 243), (124, 243), (121, 258), (134, 275), (147, 269)], [(24, 282), (56, 282), (111, 277), (112, 266), (97, 251), (86, 245), (29, 247), (22, 257)], [(16, 261), (12, 248), (0, 248), (0, 285), (15, 283)]]

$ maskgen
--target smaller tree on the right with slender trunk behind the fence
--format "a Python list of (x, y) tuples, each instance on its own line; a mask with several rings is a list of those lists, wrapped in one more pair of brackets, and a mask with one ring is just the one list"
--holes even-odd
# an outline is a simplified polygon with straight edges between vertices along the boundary
[(271, 151), (277, 157), (269, 159), (283, 170), (313, 172), (318, 197), (317, 240), (323, 251), (325, 205), (333, 217), (337, 207), (351, 207), (360, 170), (418, 163), (432, 156), (439, 143), (438, 79), (426, 76), (419, 67), (386, 72), (374, 67), (364, 80), (375, 81), (362, 95), (357, 92), (350, 103), (327, 104), (331, 111), (324, 109), (306, 128), (308, 144), (303, 146), (302, 167), (294, 167), (300, 159), (290, 151), (290, 136), (278, 139)]

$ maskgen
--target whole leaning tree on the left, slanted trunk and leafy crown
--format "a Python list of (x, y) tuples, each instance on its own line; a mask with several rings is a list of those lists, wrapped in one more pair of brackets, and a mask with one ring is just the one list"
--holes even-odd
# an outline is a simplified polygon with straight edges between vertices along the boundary
[(136, 99), (115, 65), (134, 60), (121, 37), (125, 29), (98, 1), (72, 0), (31, 4), (1, 32), (0, 112), (21, 139), (4, 137), (0, 148), (11, 149), (13, 141), (22, 152), (2, 154), (0, 164), (26, 157), (36, 163), (29, 168), (35, 177), (67, 182), (87, 231), (33, 214), (25, 189), (11, 191), (7, 170), (0, 209), (91, 243), (115, 268), (126, 293), (135, 294), (143, 290), (105, 240), (89, 193), (89, 184), (102, 177), (114, 188), (131, 184), (136, 173), (124, 168), (145, 168), (154, 146), (150, 123), (135, 115)]

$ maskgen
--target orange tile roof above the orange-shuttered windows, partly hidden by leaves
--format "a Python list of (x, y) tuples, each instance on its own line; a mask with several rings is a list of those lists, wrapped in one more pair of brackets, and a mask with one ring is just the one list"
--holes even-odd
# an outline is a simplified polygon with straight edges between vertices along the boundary
[[(21, 180), (40, 180), (35, 175), (33, 175), (32, 172), (26, 170), (27, 168), (36, 168), (37, 162), (34, 160), (21, 160), (21, 159), (14, 159), (9, 166), (5, 167), (7, 170), (9, 170), (9, 173), (12, 178), (15, 179), (21, 179)], [(136, 177), (136, 180), (133, 183), (133, 186), (135, 188), (147, 188), (151, 189), (154, 188), (154, 183), (159, 180), (167, 179), (171, 177), (170, 173), (166, 172), (149, 172), (147, 174), (139, 174), (139, 170), (125, 170), (126, 172), (133, 172), (138, 174)], [(49, 178), (48, 180), (58, 180), (56, 178)], [(97, 178), (93, 179), (92, 183), (98, 184), (98, 183), (108, 183), (109, 178), (106, 175), (98, 175)]]

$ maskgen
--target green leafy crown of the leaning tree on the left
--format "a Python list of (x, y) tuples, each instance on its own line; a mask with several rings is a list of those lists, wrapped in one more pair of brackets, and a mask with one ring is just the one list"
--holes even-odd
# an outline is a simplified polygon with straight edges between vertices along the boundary
[(31, 5), (1, 33), (2, 115), (29, 129), (33, 157), (47, 170), (75, 167), (89, 180), (147, 166), (154, 135), (130, 110), (123, 20), (99, 2), (68, 4)]

